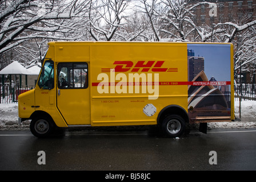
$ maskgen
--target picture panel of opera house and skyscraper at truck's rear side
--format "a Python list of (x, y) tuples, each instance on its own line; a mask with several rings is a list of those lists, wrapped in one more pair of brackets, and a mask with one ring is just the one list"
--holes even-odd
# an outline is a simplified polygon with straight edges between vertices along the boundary
[(231, 119), (229, 60), (230, 44), (187, 44), (191, 120)]

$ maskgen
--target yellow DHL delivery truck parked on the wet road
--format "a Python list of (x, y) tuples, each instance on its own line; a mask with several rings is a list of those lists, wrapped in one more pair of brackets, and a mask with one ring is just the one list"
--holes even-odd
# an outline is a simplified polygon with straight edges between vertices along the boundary
[(50, 42), (35, 89), (18, 97), (19, 122), (55, 127), (159, 125), (234, 119), (233, 44)]

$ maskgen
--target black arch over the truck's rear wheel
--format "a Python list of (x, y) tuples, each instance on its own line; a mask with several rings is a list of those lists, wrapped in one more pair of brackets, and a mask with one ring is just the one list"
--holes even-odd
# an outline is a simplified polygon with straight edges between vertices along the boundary
[(189, 123), (189, 115), (187, 114), (187, 111), (179, 105), (169, 105), (164, 107), (158, 114), (157, 123), (161, 124), (163, 119), (168, 114), (180, 115), (183, 119), (185, 119), (186, 123)]

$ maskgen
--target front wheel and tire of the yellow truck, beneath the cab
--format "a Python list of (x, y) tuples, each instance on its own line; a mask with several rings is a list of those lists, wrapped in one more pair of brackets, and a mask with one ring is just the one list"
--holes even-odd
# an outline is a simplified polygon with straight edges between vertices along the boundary
[(54, 124), (49, 118), (38, 117), (32, 119), (30, 122), (30, 131), (35, 137), (45, 138), (53, 133)]

